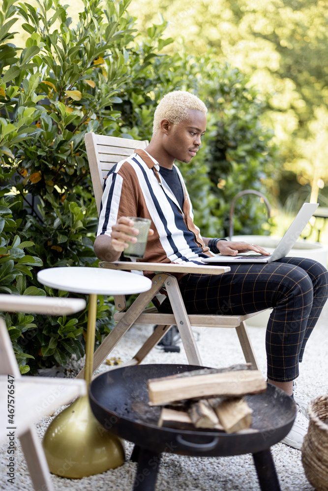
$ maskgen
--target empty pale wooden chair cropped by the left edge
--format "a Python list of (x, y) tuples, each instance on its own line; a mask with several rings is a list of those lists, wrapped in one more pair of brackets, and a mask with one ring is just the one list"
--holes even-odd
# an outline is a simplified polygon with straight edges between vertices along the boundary
[[(69, 315), (85, 306), (83, 299), (0, 295), (0, 311)], [(0, 441), (7, 441), (8, 448), (13, 448), (13, 438), (19, 437), (34, 489), (53, 491), (49, 467), (33, 422), (52, 414), (75, 397), (86, 395), (86, 382), (21, 377), (7, 327), (0, 317), (0, 391), (8, 403), (0, 407)]]

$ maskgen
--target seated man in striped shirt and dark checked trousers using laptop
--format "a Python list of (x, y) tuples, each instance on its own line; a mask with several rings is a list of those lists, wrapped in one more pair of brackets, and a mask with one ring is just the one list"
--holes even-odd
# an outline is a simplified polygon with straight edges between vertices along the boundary
[[(188, 192), (174, 161), (189, 163), (195, 157), (206, 130), (206, 113), (204, 103), (189, 92), (167, 94), (155, 111), (149, 146), (112, 168), (94, 243), (101, 260), (118, 260), (128, 242), (137, 241), (138, 231), (127, 217), (152, 220), (145, 261), (192, 264), (212, 252), (268, 254), (254, 244), (203, 238), (193, 223)], [(231, 272), (217, 276), (179, 275), (186, 310), (190, 314), (245, 314), (273, 307), (266, 336), (268, 382), (293, 397), (298, 363), (327, 300), (327, 270), (315, 261), (295, 257), (229, 266)], [(160, 311), (170, 310), (165, 295), (157, 301)], [(308, 424), (306, 402), (295, 390), (294, 397), (298, 414), (283, 441), (300, 449)]]

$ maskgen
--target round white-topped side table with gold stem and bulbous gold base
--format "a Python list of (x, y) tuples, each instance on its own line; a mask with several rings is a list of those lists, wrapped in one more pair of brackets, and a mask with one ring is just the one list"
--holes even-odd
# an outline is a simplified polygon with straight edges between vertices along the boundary
[[(43, 285), (89, 295), (85, 380), (92, 377), (97, 295), (129, 295), (151, 288), (151, 280), (135, 273), (87, 267), (48, 268), (37, 273)], [(105, 472), (125, 460), (123, 442), (100, 428), (89, 397), (79, 397), (52, 421), (43, 438), (49, 469), (72, 479)], [(69, 463), (69, 465), (67, 464)]]

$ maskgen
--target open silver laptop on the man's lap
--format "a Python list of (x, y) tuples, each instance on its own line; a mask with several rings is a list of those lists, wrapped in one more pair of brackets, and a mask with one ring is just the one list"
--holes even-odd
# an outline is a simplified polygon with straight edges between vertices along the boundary
[(270, 263), (271, 261), (277, 261), (287, 256), (318, 206), (318, 203), (304, 203), (302, 205), (289, 229), (269, 256), (254, 254), (254, 251), (252, 251), (251, 254), (237, 254), (237, 256), (216, 254), (214, 257), (202, 258), (202, 261), (204, 263)]

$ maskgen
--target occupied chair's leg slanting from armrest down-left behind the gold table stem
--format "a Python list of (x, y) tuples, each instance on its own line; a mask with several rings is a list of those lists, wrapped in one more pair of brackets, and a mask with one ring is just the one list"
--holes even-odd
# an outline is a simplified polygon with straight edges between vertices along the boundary
[[(158, 276), (161, 278), (159, 280)], [(161, 289), (163, 281), (168, 277), (168, 274), (159, 273), (152, 278), (152, 287), (148, 292), (141, 293), (139, 297), (132, 303), (127, 309), (123, 318), (117, 323), (117, 325), (111, 330), (108, 336), (103, 340), (99, 348), (93, 355), (93, 368), (92, 374), (97, 370), (99, 365), (104, 361), (108, 354), (117, 345), (120, 338), (125, 332), (132, 326), (135, 320), (140, 316), (143, 310), (147, 307), (150, 300), (154, 298), (156, 293)], [(85, 368), (77, 374), (77, 379), (84, 378)]]

